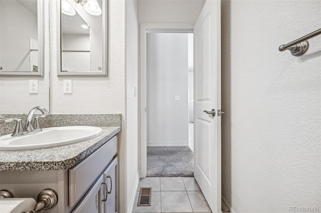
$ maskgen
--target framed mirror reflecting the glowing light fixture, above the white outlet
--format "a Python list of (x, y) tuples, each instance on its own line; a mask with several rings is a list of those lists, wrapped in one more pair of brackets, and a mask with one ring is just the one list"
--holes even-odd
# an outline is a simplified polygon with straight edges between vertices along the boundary
[(107, 75), (107, 0), (57, 3), (59, 75)]

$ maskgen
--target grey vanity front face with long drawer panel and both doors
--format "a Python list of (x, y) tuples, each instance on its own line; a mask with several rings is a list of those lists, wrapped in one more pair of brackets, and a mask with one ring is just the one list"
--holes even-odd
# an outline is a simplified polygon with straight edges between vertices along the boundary
[(117, 212), (116, 152), (117, 137), (114, 137), (91, 156), (69, 169), (69, 206), (74, 206), (80, 199), (72, 212)]

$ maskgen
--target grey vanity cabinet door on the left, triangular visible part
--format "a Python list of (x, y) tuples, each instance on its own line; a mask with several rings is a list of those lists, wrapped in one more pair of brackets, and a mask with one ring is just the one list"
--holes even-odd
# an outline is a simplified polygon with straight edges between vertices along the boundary
[(96, 182), (92, 185), (85, 196), (80, 200), (72, 213), (101, 213), (102, 210), (102, 196), (103, 196), (103, 179), (104, 176), (100, 175)]

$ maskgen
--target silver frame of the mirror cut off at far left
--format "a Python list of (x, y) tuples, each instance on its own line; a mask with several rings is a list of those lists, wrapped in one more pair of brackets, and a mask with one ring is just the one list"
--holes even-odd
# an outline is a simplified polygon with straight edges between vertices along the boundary
[(38, 71), (1, 71), (0, 75), (40, 75), (44, 76), (44, 47), (45, 47), (45, 8), (44, 1), (37, 0), (38, 10)]

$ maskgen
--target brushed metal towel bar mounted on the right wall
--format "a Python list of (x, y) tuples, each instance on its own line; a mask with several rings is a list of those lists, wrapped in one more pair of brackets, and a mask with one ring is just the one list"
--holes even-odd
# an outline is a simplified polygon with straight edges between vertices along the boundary
[(292, 55), (300, 56), (304, 54), (304, 52), (306, 52), (309, 47), (309, 42), (307, 41), (307, 39), (310, 39), (319, 34), (321, 34), (321, 29), (315, 30), (314, 32), (304, 35), (303, 37), (293, 40), (292, 42), (289, 42), (287, 44), (280, 45), (279, 50), (285, 51), (286, 49), (288, 49), (291, 51)]

